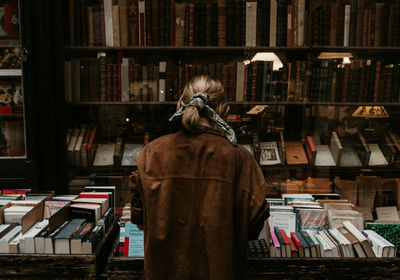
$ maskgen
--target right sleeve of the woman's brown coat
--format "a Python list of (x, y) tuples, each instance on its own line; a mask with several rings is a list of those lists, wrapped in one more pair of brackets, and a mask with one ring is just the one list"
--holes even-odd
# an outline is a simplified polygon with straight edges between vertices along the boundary
[(245, 192), (248, 211), (248, 239), (257, 239), (264, 221), (269, 217), (269, 204), (264, 175), (254, 157), (243, 147), (238, 148), (238, 187)]

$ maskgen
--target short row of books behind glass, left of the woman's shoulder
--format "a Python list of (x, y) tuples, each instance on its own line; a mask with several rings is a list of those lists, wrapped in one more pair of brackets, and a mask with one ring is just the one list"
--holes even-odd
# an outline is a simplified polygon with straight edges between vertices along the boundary
[(143, 144), (125, 143), (121, 137), (115, 143), (95, 144), (96, 125), (83, 125), (67, 130), (67, 159), (70, 166), (136, 166), (136, 156)]

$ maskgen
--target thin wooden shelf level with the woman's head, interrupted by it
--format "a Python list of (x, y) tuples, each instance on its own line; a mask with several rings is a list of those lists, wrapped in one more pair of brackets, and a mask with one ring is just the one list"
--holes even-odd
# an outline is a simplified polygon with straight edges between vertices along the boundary
[[(79, 101), (67, 102), (67, 104), (80, 106), (80, 105), (176, 105), (178, 101)], [(400, 106), (400, 102), (300, 102), (300, 101), (229, 101), (230, 105), (316, 105), (316, 106)]]

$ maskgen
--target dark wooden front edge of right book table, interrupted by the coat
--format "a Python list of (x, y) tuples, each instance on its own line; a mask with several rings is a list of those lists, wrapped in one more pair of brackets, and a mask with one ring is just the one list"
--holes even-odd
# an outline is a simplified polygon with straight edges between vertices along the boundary
[[(110, 256), (107, 279), (141, 279), (143, 259)], [(400, 279), (400, 259), (252, 258), (248, 279)]]

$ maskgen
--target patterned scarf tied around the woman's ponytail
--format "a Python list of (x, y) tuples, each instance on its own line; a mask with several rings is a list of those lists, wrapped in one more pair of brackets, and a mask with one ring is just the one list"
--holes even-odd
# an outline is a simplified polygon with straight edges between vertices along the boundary
[(236, 135), (233, 129), (214, 111), (213, 108), (208, 106), (207, 104), (208, 101), (208, 95), (205, 94), (204, 92), (199, 92), (196, 93), (195, 95), (190, 98), (189, 103), (185, 104), (184, 106), (180, 107), (175, 114), (169, 119), (169, 121), (173, 121), (183, 115), (183, 113), (186, 111), (189, 106), (194, 106), (196, 107), (199, 111), (205, 112), (207, 118), (210, 121), (213, 121), (217, 126), (219, 126), (225, 134), (225, 137), (228, 139), (228, 141), (236, 146), (237, 141), (236, 141)]

